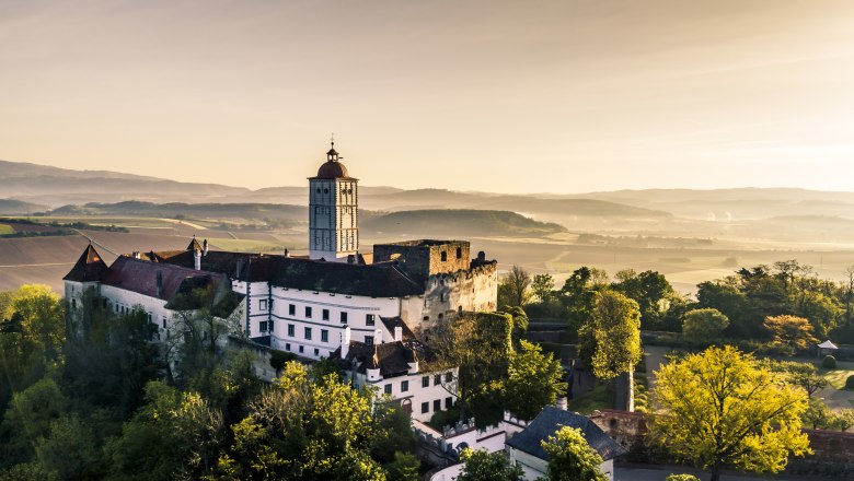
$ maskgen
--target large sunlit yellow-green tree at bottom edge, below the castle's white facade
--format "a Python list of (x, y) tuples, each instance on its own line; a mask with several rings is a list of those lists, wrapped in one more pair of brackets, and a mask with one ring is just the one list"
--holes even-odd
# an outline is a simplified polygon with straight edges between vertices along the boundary
[(249, 415), (232, 426), (234, 441), (220, 456), (219, 476), (385, 479), (370, 450), (383, 445), (378, 431), (396, 423), (378, 419), (371, 391), (358, 391), (334, 374), (315, 382), (296, 362), (282, 371), (276, 385), (250, 401)]

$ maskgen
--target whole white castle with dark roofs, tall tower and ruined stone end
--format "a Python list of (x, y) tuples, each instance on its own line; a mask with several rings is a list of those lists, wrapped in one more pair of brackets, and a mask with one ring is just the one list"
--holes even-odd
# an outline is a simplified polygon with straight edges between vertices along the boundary
[(443, 318), (496, 308), (496, 261), (471, 257), (466, 241), (377, 244), (359, 253), (358, 179), (333, 148), (309, 178), (309, 255), (208, 249), (134, 253), (107, 267), (91, 245), (64, 278), (71, 321), (93, 289), (116, 312), (138, 307), (174, 336), (175, 300), (215, 293), (218, 317), (240, 319), (246, 337), (309, 360), (337, 359), (357, 385), (373, 385), (429, 420), (454, 398), (454, 369), (426, 372), (420, 339)]

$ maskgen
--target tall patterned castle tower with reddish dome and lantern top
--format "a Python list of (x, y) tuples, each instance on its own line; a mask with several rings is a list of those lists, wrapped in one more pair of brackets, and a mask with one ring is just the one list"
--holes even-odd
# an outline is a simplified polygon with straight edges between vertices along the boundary
[(331, 143), (326, 162), (309, 178), (309, 258), (346, 261), (359, 249), (359, 180)]

